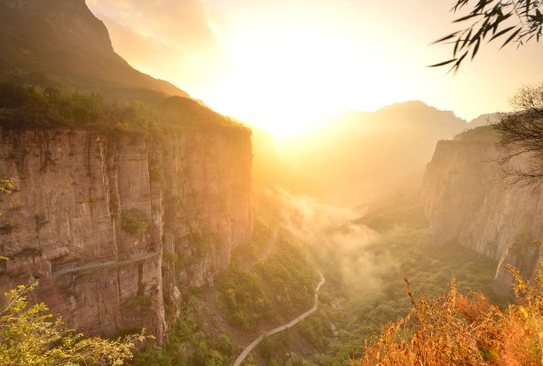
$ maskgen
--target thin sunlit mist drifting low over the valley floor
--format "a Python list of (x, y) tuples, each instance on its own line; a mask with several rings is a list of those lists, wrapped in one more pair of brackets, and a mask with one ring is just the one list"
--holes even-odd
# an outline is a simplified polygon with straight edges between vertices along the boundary
[(395, 267), (385, 253), (366, 251), (380, 234), (353, 223), (360, 217), (360, 209), (330, 206), (280, 189), (267, 194), (279, 202), (287, 230), (321, 260), (334, 262), (354, 295), (371, 297), (381, 286), (383, 275)]

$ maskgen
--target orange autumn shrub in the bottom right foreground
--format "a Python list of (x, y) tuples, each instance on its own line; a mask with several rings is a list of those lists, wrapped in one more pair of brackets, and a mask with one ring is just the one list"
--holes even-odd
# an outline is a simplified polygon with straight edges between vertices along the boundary
[(517, 303), (506, 311), (482, 294), (471, 299), (451, 291), (437, 299), (415, 300), (405, 279), (413, 310), (397, 323), (389, 323), (381, 338), (366, 343), (366, 355), (353, 362), (366, 365), (539, 365), (543, 361), (543, 297), (539, 274), (525, 284), (513, 272)]

